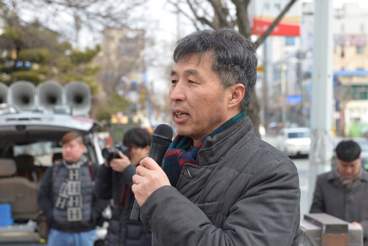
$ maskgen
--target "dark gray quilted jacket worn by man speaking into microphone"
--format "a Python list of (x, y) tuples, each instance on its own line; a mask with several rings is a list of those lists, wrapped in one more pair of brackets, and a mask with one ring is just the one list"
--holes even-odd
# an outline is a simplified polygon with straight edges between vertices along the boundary
[(141, 219), (152, 246), (297, 246), (299, 202), (294, 163), (257, 138), (246, 117), (208, 137), (177, 186), (142, 204)]

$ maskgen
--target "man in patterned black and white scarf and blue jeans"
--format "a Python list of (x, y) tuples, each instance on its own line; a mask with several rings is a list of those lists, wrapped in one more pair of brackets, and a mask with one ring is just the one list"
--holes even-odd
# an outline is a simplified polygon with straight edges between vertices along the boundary
[(61, 162), (49, 167), (38, 192), (38, 203), (50, 222), (49, 246), (92, 246), (96, 224), (108, 200), (97, 200), (93, 183), (99, 165), (84, 155), (84, 138), (68, 132), (61, 138)]

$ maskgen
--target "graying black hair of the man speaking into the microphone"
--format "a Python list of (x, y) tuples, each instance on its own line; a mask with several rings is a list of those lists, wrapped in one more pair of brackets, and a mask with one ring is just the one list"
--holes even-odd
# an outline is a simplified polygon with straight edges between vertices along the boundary
[[(198, 54), (210, 54), (214, 58), (212, 69), (219, 74), (222, 89), (233, 84), (243, 84), (245, 95), (241, 111), (250, 103), (257, 79), (257, 55), (254, 44), (233, 29), (201, 30), (179, 39), (175, 44), (173, 59), (175, 63)], [(210, 53), (212, 52), (212, 53)]]

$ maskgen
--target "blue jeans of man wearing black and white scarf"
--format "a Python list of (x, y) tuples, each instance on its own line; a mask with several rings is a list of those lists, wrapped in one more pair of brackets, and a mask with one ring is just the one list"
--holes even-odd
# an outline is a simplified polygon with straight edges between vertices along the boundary
[(48, 246), (93, 246), (97, 238), (96, 230), (87, 232), (61, 232), (50, 229)]

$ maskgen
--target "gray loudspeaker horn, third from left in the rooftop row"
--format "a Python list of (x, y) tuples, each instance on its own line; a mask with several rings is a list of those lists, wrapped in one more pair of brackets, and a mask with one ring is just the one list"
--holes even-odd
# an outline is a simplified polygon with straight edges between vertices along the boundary
[(56, 81), (48, 80), (36, 87), (38, 109), (44, 113), (53, 113), (54, 106), (63, 104), (64, 87)]

